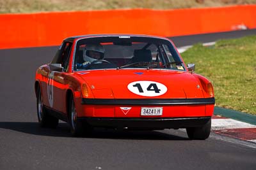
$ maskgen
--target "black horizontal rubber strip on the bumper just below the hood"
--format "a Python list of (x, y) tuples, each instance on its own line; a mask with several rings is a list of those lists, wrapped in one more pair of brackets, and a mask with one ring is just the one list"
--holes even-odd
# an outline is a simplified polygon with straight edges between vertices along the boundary
[(214, 104), (214, 97), (195, 99), (82, 99), (81, 104), (95, 105), (183, 105)]

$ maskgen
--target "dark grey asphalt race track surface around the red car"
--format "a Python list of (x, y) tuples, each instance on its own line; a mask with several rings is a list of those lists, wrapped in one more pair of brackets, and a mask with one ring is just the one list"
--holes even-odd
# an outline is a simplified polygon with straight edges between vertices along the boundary
[[(177, 46), (237, 38), (256, 30), (172, 38)], [(35, 70), (56, 46), (0, 50), (0, 169), (255, 169), (256, 146), (212, 133), (191, 141), (181, 130), (103, 131), (71, 138), (67, 124), (41, 129)]]

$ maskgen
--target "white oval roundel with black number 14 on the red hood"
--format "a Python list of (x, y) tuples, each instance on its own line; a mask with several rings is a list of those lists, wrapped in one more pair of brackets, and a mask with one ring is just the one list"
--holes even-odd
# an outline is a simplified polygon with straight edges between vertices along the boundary
[(156, 81), (133, 81), (127, 88), (134, 94), (140, 96), (161, 96), (167, 92), (167, 87)]

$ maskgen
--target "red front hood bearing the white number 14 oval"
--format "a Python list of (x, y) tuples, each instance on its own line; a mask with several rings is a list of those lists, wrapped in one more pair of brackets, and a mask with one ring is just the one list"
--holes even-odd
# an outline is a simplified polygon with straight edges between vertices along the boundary
[(186, 71), (97, 70), (78, 72), (100, 99), (202, 98), (200, 82)]

